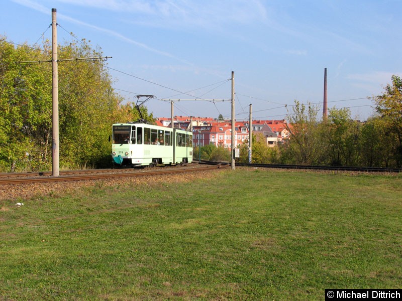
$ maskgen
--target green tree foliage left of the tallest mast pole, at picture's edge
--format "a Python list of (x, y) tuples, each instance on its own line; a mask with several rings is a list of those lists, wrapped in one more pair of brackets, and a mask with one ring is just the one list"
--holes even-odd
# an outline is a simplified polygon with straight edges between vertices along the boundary
[[(24, 169), (42, 161), (41, 137), (49, 133), (51, 120), (51, 80), (49, 66), (17, 64), (40, 61), (43, 51), (14, 48), (0, 38), (0, 165), (2, 169)], [(49, 102), (50, 101), (50, 102)]]

